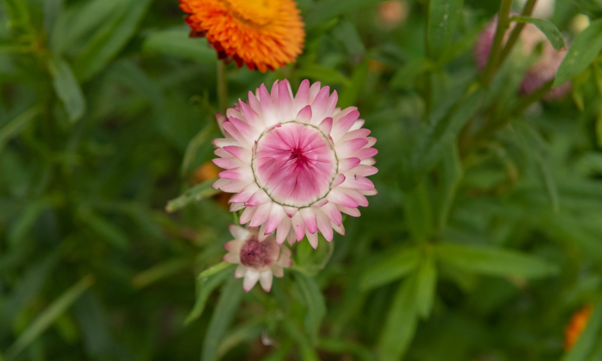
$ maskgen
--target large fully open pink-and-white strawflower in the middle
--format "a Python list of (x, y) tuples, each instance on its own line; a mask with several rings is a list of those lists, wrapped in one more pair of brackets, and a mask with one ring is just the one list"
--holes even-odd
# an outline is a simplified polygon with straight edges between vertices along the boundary
[(260, 227), (259, 240), (276, 231), (276, 242), (292, 244), (307, 236), (318, 245), (335, 229), (344, 234), (341, 212), (359, 216), (365, 196), (376, 194), (367, 176), (373, 167), (376, 138), (362, 128), (355, 106), (341, 110), (337, 92), (304, 80), (293, 96), (288, 80), (271, 93), (261, 84), (240, 110), (217, 116), (225, 138), (214, 140), (213, 159), (225, 168), (213, 184), (237, 193), (231, 211), (244, 209), (240, 224)]

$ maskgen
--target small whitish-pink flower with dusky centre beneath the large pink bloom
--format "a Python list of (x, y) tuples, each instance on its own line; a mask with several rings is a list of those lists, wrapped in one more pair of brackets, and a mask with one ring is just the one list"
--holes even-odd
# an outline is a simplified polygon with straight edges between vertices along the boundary
[(284, 276), (284, 268), (293, 265), (291, 250), (276, 244), (271, 236), (259, 241), (258, 230), (231, 224), (230, 232), (235, 239), (224, 245), (228, 253), (223, 256), (223, 261), (238, 264), (234, 277), (244, 277), (244, 292), (249, 292), (257, 281), (265, 292), (270, 292), (272, 276)]

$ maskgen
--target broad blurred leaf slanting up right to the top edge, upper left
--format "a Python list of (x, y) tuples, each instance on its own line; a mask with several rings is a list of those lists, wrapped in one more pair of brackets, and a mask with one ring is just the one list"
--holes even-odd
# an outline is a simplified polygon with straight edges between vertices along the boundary
[(125, 11), (117, 12), (99, 27), (84, 51), (73, 60), (73, 72), (81, 81), (96, 75), (131, 39), (151, 0), (127, 0)]

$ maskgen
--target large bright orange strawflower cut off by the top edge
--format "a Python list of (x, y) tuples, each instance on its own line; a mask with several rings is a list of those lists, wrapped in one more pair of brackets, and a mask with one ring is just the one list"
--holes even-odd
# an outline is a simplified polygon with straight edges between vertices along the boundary
[(179, 0), (192, 37), (204, 36), (220, 59), (261, 72), (301, 54), (305, 30), (293, 0)]

